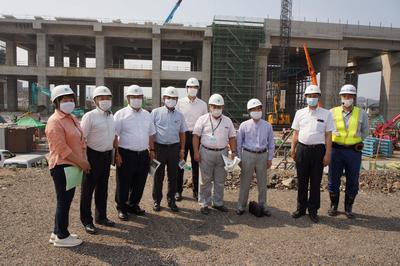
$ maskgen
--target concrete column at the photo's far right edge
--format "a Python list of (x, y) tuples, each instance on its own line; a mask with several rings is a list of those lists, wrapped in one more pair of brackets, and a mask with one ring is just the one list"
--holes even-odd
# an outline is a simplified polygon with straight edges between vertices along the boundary
[(385, 119), (400, 113), (400, 53), (382, 57), (382, 79), (379, 108)]

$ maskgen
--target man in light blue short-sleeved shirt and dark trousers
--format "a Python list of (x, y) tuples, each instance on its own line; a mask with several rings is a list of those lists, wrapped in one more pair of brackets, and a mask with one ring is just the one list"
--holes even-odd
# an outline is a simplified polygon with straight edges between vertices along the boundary
[(155, 148), (156, 159), (161, 163), (154, 175), (153, 183), (153, 210), (161, 210), (162, 187), (167, 166), (168, 175), (168, 207), (171, 211), (179, 211), (175, 203), (176, 179), (178, 175), (178, 164), (185, 155), (185, 132), (187, 131), (183, 114), (176, 110), (178, 90), (167, 87), (163, 95), (164, 106), (151, 112), (154, 126), (156, 128)]

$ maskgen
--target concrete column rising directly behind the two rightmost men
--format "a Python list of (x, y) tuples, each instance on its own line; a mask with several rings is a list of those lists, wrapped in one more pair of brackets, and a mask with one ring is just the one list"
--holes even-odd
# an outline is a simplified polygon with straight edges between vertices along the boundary
[(324, 108), (330, 109), (340, 102), (338, 94), (345, 83), (347, 54), (347, 50), (329, 50), (319, 58), (321, 101)]

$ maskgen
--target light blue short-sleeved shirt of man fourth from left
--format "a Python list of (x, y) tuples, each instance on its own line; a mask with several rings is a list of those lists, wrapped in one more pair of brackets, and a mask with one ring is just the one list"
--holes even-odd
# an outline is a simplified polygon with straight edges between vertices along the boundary
[(151, 118), (156, 128), (157, 143), (179, 143), (179, 133), (187, 131), (185, 118), (176, 109), (170, 111), (165, 106), (158, 107), (151, 112)]

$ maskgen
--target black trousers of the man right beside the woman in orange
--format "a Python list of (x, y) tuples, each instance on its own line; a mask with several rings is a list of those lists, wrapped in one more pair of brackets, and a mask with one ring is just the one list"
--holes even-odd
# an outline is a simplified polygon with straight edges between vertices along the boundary
[(93, 192), (96, 221), (107, 218), (108, 178), (111, 165), (111, 151), (98, 152), (88, 147), (86, 154), (91, 169), (90, 173), (83, 176), (81, 186), (80, 210), (83, 225), (93, 223), (91, 212)]

